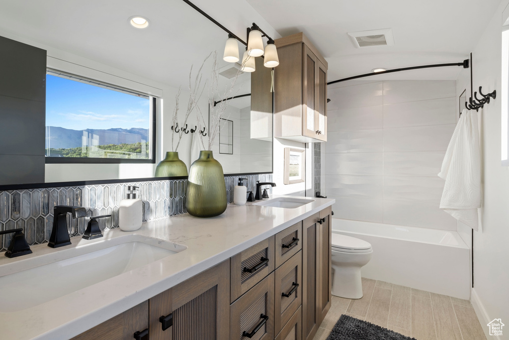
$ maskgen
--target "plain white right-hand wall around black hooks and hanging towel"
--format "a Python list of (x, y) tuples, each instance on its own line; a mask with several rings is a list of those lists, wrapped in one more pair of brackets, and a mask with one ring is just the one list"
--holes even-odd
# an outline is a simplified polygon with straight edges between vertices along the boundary
[[(509, 320), (509, 169), (500, 165), (501, 154), (501, 27), (502, 12), (509, 2), (502, 0), (486, 27), (482, 38), (472, 50), (473, 88), (483, 92), (497, 90), (497, 98), (482, 110), (483, 207), (482, 228), (474, 231), (473, 270), (474, 291), (472, 303), (483, 329), (486, 323), (501, 318)], [(468, 89), (470, 96), (470, 69), (460, 75), (457, 93)], [(504, 103), (506, 104), (506, 103)], [(509, 329), (504, 327), (504, 337)], [(493, 338), (487, 335), (488, 338)]]

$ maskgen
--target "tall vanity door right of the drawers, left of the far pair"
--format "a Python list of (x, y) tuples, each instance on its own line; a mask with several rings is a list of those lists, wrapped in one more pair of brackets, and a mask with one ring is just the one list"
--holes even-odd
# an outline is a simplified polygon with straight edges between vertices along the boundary
[(318, 220), (316, 213), (302, 224), (302, 338), (313, 339), (320, 326), (318, 287)]

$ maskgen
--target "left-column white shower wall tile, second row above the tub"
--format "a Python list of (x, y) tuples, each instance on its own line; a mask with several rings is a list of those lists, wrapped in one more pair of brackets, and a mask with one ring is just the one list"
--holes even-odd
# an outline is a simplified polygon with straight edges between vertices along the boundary
[(326, 175), (322, 195), (383, 199), (382, 176)]

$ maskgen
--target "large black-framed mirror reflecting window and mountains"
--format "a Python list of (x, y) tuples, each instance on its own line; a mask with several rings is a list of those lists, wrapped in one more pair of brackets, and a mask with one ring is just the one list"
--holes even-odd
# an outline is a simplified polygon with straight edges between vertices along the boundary
[[(48, 109), (46, 101), (46, 114), (48, 117), (53, 114), (51, 119), (47, 117), (43, 123), (41, 119), (30, 122), (34, 126), (38, 124), (39, 127), (41, 123), (44, 126), (44, 154), (73, 158), (84, 156), (89, 160), (73, 160), (70, 163), (61, 160), (46, 161), (42, 169), (41, 166), (36, 169), (39, 173), (42, 170), (42, 177), (27, 175), (13, 181), (9, 176), (19, 178), (20, 171), (11, 171), (9, 174), (4, 165), (16, 163), (12, 154), (27, 152), (16, 150), (17, 147), (23, 147), (23, 142), (15, 140), (6, 145), (6, 139), (0, 139), (4, 144), (3, 149), (8, 147), (10, 150), (6, 153), (11, 153), (3, 155), (0, 152), (0, 163), (4, 169), (0, 173), (0, 186), (153, 177), (155, 167), (164, 158), (165, 152), (175, 147), (177, 134), (173, 132), (172, 126), (178, 88), (181, 88), (181, 95), (177, 121), (182, 124), (188, 105), (189, 80), (196, 77), (207, 55), (217, 51), (221, 72), (233, 65), (222, 60), (227, 33), (182, 1), (129, 7), (124, 6), (123, 1), (115, 0), (110, 2), (110, 6), (104, 7), (99, 1), (92, 0), (92, 3), (62, 8), (57, 2), (6, 0), (4, 5), (5, 10), (0, 13), (0, 36), (47, 51), (47, 77), (51, 79), (47, 80), (46, 85), (53, 85), (55, 79), (71, 84), (78, 82), (80, 84), (76, 85), (77, 88), (84, 85), (97, 86), (99, 92), (113, 90), (119, 95), (130, 95), (131, 99), (134, 96), (134, 99), (133, 107), (125, 104), (128, 100), (122, 99), (125, 105), (118, 105), (109, 113), (107, 108), (98, 112), (96, 107), (86, 105), (90, 103), (89, 100), (82, 99), (81, 106), (59, 108), (57, 116), (54, 115), (56, 109)], [(101, 8), (100, 18), (94, 8)], [(138, 12), (149, 19), (148, 28), (135, 29), (129, 25), (128, 18)], [(51, 17), (51, 20), (35, 20), (45, 16)], [(91, 24), (90, 18), (95, 18), (94, 24)], [(228, 27), (228, 22), (222, 24)], [(241, 38), (245, 40), (245, 37)], [(241, 43), (238, 45), (242, 57), (245, 46)], [(203, 64), (201, 70), (202, 85), (205, 87), (200, 110), (205, 116), (209, 112), (207, 86), (211, 77), (211, 59)], [(24, 69), (23, 72), (23, 76), (28, 74), (30, 78), (31, 69)], [(242, 73), (236, 80), (235, 96), (245, 96), (229, 100), (227, 112), (221, 121), (220, 134), (212, 147), (225, 174), (272, 172), (272, 93), (267, 79), (270, 80), (270, 69), (263, 67), (263, 62), (257, 61), (257, 71), (252, 74)], [(228, 72), (220, 75), (221, 86), (227, 87), (229, 81), (231, 78)], [(0, 89), (7, 86), (0, 84)], [(61, 90), (69, 87), (66, 84), (60, 85)], [(262, 90), (253, 91), (249, 95), (253, 87)], [(55, 97), (57, 94), (60, 96)], [(51, 95), (52, 102), (56, 100), (59, 105), (69, 100), (65, 92)], [(9, 93), (0, 91), (0, 99), (3, 96), (9, 96)], [(139, 108), (133, 109), (136, 98), (139, 99)], [(221, 99), (224, 98), (214, 98)], [(258, 104), (251, 107), (252, 101)], [(140, 115), (144, 107), (148, 112), (144, 113), (145, 116)], [(269, 107), (270, 110), (267, 109)], [(0, 123), (3, 125), (16, 116), (10, 114), (11, 107), (6, 110), (5, 101), (2, 100), (0, 111)], [(142, 120), (145, 120), (143, 124)], [(18, 121), (11, 125), (25, 123)], [(188, 130), (196, 126), (196, 112), (189, 116), (188, 125)], [(183, 135), (177, 150), (187, 167), (196, 159), (192, 150), (194, 134)], [(16, 130), (13, 130), (10, 136), (15, 135)], [(26, 140), (28, 137), (23, 138)], [(56, 142), (55, 138), (60, 138), (60, 142)], [(105, 149), (105, 145), (109, 145), (109, 149)], [(98, 164), (90, 160), (91, 157), (105, 154), (114, 159), (137, 161), (100, 161)], [(19, 159), (17, 154), (16, 157)], [(155, 161), (151, 161), (151, 158)], [(37, 168), (31, 163), (32, 159), (38, 159), (40, 164), (41, 156), (37, 154), (37, 158), (34, 156), (29, 161), (25, 157), (20, 161), (18, 169), (24, 167), (30, 172), (31, 167)]]

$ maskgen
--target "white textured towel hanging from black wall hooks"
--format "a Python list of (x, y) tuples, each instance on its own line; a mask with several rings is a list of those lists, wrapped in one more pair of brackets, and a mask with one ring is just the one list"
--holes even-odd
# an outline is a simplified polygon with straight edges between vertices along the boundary
[(478, 116), (464, 109), (438, 176), (445, 179), (440, 208), (474, 230), (481, 205)]

